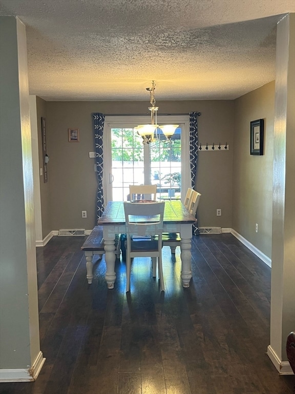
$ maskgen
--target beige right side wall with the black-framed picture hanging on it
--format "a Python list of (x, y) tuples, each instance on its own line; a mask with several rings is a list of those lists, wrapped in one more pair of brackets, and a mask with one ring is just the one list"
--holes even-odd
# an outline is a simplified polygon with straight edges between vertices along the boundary
[[(271, 258), (275, 82), (235, 101), (233, 229)], [(264, 154), (250, 155), (250, 122), (264, 120)], [(258, 224), (258, 233), (255, 225)]]

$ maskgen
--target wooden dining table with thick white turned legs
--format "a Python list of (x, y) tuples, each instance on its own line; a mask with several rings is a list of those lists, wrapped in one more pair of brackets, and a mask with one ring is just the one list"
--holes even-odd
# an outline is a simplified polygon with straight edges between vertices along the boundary
[[(189, 281), (192, 278), (191, 242), (192, 226), (195, 222), (195, 217), (187, 211), (181, 201), (165, 201), (163, 232), (180, 234), (181, 280), (183, 287), (189, 287)], [(105, 278), (108, 288), (113, 289), (116, 280), (115, 235), (127, 232), (123, 202), (110, 201), (101, 218), (98, 219), (97, 225), (103, 228), (104, 259), (107, 265)]]

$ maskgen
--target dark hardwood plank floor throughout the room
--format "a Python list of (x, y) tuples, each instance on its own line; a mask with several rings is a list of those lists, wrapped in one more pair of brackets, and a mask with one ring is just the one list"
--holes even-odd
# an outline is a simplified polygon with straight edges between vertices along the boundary
[(191, 286), (179, 248), (163, 248), (165, 292), (149, 259), (125, 264), (108, 290), (104, 259), (86, 280), (86, 237), (37, 248), (40, 349), (36, 382), (2, 383), (2, 394), (291, 394), (269, 345), (270, 268), (231, 234), (192, 242)]

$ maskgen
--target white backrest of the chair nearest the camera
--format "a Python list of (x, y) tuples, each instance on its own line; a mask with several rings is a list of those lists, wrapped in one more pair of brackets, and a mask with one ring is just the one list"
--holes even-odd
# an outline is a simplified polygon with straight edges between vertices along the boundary
[[(128, 235), (161, 235), (163, 231), (165, 202), (124, 202), (125, 222)], [(128, 237), (130, 238), (130, 237)]]

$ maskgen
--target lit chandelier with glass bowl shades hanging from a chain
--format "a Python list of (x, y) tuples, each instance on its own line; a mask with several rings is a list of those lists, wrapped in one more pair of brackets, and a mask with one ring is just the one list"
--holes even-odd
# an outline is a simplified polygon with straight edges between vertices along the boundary
[(150, 92), (150, 103), (152, 104), (152, 107), (149, 107), (149, 110), (151, 111), (151, 124), (138, 125), (134, 127), (134, 129), (137, 131), (137, 134), (142, 137), (143, 144), (150, 144), (151, 142), (153, 142), (155, 134), (157, 140), (160, 141), (158, 128), (162, 130), (164, 136), (166, 137), (165, 142), (171, 143), (171, 137), (174, 134), (175, 129), (178, 127), (178, 125), (157, 125), (157, 111), (159, 107), (156, 107), (155, 87), (155, 81), (152, 81), (152, 87), (146, 88), (146, 90)]

